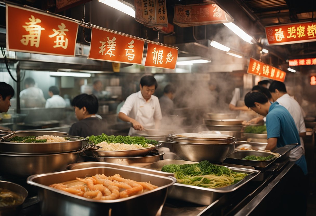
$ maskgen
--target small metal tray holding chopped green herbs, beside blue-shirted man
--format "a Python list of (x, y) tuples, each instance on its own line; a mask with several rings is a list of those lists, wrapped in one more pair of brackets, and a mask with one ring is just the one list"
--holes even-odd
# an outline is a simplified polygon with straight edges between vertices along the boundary
[[(256, 156), (269, 156), (270, 154), (275, 155), (275, 157), (271, 158), (270, 160), (258, 161), (258, 160), (245, 160), (242, 159), (248, 155), (256, 155)], [(253, 166), (253, 167), (260, 167), (265, 168), (271, 163), (273, 163), (277, 158), (280, 157), (279, 153), (274, 152), (261, 152), (261, 151), (251, 151), (251, 150), (239, 150), (236, 152), (231, 153), (228, 157), (224, 160), (225, 163), (231, 164), (239, 164), (245, 166)]]

